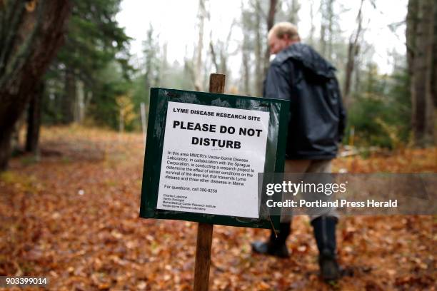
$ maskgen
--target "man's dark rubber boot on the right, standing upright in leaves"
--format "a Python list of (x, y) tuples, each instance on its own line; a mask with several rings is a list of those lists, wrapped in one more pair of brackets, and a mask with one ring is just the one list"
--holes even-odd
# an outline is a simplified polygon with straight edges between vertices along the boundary
[(318, 265), (323, 280), (337, 280), (340, 277), (336, 257), (336, 224), (338, 218), (321, 216), (313, 221), (314, 237), (319, 252)]

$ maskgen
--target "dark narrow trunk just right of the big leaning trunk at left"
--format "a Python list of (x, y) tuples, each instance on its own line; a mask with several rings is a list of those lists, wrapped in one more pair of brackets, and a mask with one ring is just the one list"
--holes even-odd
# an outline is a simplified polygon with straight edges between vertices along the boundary
[(34, 95), (29, 103), (27, 113), (26, 151), (38, 152), (39, 128), (41, 127), (41, 101), (44, 93), (44, 83), (36, 86)]

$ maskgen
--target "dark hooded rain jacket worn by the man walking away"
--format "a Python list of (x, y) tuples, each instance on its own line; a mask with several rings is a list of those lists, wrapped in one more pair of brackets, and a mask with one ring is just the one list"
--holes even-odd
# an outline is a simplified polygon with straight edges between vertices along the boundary
[(271, 62), (263, 96), (290, 101), (286, 158), (335, 158), (346, 123), (335, 71), (301, 43), (283, 49)]

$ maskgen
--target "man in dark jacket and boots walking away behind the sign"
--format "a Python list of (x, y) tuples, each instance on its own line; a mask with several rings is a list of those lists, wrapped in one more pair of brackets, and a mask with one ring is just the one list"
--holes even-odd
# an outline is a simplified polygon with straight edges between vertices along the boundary
[[(290, 101), (285, 173), (331, 173), (346, 121), (338, 81), (331, 63), (311, 46), (301, 44), (296, 26), (281, 22), (268, 32), (268, 46), (276, 57), (268, 68), (263, 96)], [(336, 280), (336, 210), (311, 215), (324, 280)], [(286, 239), (291, 215), (281, 215), (278, 237), (253, 242), (252, 249), (266, 255), (288, 257)]]

